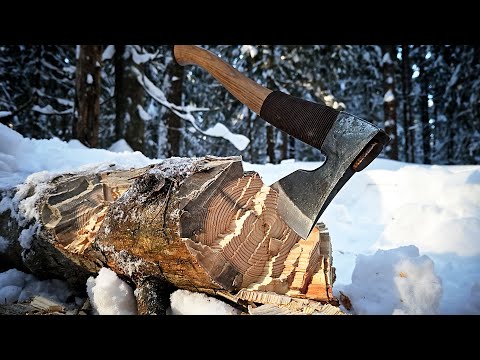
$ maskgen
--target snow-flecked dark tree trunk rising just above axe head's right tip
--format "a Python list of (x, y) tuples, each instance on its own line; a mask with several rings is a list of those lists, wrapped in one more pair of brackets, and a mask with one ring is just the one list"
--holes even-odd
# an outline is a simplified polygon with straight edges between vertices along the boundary
[(398, 160), (397, 139), (397, 101), (395, 93), (395, 71), (393, 59), (396, 58), (395, 46), (384, 45), (383, 50), (383, 111), (385, 114), (385, 132), (392, 139), (385, 148), (385, 155), (393, 160)]

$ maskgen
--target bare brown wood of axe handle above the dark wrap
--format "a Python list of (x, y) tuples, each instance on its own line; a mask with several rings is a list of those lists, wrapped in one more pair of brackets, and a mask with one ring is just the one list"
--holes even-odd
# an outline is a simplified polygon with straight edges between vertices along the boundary
[(175, 59), (180, 65), (198, 65), (217, 79), (233, 96), (260, 115), (260, 109), (272, 90), (257, 84), (217, 55), (195, 45), (175, 45)]

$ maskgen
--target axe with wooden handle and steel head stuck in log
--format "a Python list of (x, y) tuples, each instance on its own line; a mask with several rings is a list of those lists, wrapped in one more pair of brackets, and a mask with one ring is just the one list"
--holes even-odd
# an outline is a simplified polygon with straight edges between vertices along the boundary
[(344, 111), (257, 84), (217, 55), (194, 45), (175, 45), (178, 64), (198, 65), (262, 119), (326, 155), (316, 170), (297, 170), (271, 187), (278, 213), (306, 239), (338, 191), (390, 141), (379, 127)]

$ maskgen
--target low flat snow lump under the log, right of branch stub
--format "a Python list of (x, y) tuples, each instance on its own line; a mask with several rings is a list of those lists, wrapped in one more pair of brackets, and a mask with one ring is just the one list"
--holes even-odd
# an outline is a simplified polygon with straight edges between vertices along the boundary
[(223, 301), (202, 293), (177, 290), (170, 295), (172, 315), (238, 315), (240, 312)]

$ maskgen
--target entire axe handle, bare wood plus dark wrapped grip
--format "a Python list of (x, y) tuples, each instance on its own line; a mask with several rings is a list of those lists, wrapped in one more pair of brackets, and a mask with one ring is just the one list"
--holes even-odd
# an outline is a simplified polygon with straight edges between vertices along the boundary
[(339, 111), (280, 91), (249, 79), (208, 50), (194, 45), (175, 45), (180, 65), (198, 65), (217, 79), (235, 98), (262, 119), (317, 149), (333, 126)]

